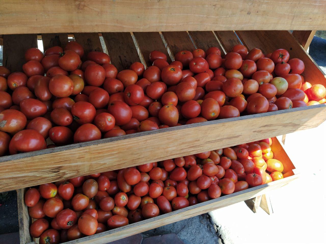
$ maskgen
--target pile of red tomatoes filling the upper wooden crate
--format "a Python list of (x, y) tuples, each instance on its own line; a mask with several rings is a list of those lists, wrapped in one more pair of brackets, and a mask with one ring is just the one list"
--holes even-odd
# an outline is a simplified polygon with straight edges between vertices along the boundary
[(75, 41), (30, 48), (23, 72), (0, 66), (0, 156), (326, 102), (325, 87), (305, 82), (303, 61), (289, 58), (236, 45), (225, 59), (211, 47), (169, 64), (152, 51), (152, 66), (118, 72)]

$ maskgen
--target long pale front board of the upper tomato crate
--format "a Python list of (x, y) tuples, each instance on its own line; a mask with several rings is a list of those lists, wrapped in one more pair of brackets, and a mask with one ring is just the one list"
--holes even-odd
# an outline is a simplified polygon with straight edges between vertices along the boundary
[(326, 104), (320, 104), (3, 156), (0, 191), (225, 148), (314, 128), (325, 119)]

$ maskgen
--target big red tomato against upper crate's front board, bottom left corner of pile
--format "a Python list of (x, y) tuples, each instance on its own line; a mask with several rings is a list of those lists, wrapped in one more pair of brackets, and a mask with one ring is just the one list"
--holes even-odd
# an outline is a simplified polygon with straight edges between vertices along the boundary
[(33, 129), (25, 129), (16, 133), (9, 143), (9, 153), (32, 152), (46, 149), (44, 137)]

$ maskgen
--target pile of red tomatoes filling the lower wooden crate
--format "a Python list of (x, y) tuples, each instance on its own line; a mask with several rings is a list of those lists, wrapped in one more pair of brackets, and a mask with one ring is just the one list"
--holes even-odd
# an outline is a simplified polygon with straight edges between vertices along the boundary
[(282, 179), (271, 144), (269, 138), (30, 188), (30, 234), (40, 244), (66, 242)]

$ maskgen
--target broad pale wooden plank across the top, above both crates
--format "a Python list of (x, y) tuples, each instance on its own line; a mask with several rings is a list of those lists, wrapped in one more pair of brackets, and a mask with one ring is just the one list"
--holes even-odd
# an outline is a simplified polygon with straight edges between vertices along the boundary
[(3, 34), (326, 29), (320, 0), (7, 0), (1, 7)]

